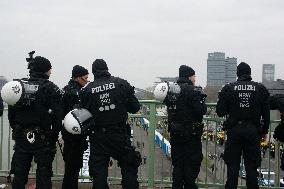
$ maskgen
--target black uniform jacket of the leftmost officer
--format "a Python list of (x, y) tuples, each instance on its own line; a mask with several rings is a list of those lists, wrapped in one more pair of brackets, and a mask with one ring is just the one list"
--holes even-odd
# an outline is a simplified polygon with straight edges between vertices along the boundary
[(37, 98), (41, 108), (35, 112), (18, 106), (9, 106), (8, 119), (13, 130), (16, 126), (20, 126), (21, 129), (38, 126), (42, 131), (48, 132), (54, 140), (57, 140), (64, 116), (62, 92), (48, 78), (46, 74), (42, 73), (33, 72), (30, 74), (29, 80), (44, 81), (44, 85), (39, 88)]

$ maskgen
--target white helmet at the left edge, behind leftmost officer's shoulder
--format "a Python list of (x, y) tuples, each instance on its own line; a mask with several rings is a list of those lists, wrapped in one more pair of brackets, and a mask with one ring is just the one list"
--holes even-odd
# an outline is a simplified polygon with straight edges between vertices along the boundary
[(23, 86), (19, 81), (6, 83), (1, 90), (1, 97), (8, 105), (15, 105), (23, 94)]

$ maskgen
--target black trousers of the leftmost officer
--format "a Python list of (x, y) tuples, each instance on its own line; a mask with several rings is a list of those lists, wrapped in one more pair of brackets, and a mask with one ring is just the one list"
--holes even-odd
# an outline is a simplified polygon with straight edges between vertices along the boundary
[(51, 189), (52, 162), (55, 156), (56, 147), (42, 147), (37, 150), (25, 149), (19, 145), (15, 145), (15, 152), (12, 158), (12, 172), (14, 179), (12, 182), (13, 189), (25, 189), (28, 182), (28, 175), (31, 162), (34, 158), (37, 164), (36, 169), (36, 188)]

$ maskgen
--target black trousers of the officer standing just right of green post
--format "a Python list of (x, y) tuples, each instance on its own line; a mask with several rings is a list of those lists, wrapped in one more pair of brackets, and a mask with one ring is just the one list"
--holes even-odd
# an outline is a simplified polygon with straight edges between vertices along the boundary
[(171, 135), (173, 189), (197, 189), (195, 183), (203, 159), (201, 139), (198, 136)]

